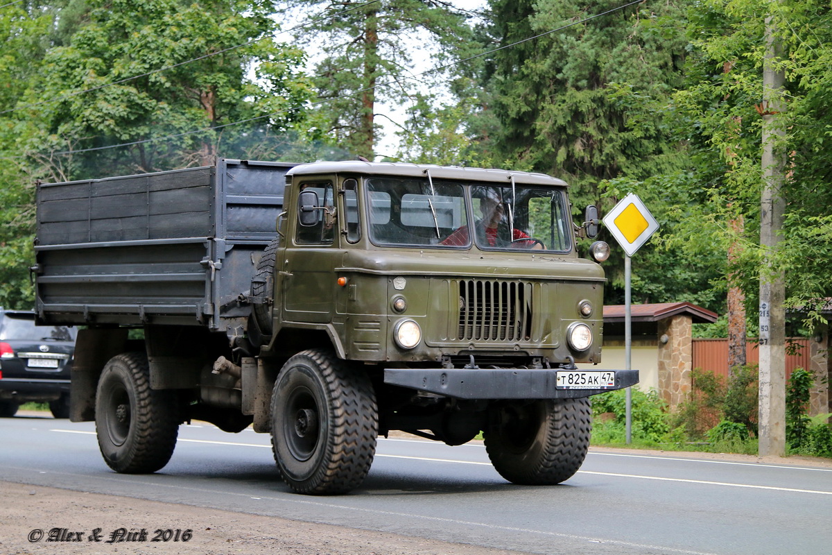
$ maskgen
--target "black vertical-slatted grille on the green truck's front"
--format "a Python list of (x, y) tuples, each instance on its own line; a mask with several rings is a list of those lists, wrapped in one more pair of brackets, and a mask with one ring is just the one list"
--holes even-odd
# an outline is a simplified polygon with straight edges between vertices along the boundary
[(459, 280), (457, 338), (525, 341), (532, 334), (532, 284)]

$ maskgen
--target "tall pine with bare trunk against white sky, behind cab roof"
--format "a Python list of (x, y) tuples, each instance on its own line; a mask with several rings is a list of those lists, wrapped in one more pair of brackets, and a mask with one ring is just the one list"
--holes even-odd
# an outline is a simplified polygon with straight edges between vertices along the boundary
[(434, 62), (468, 52), (467, 14), (442, 0), (285, 0), (303, 14), (297, 34), (319, 52), (314, 84), (321, 131), (355, 155), (372, 158), (379, 136), (377, 102), (415, 97), (431, 77), (409, 78), (414, 51)]

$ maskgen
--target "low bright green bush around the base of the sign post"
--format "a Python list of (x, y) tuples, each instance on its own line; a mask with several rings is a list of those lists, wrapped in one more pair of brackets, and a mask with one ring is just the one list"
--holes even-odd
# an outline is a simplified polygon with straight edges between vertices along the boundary
[[(666, 405), (659, 398), (655, 389), (644, 393), (632, 389), (631, 434), (634, 440), (658, 444), (670, 431), (666, 419)], [(601, 415), (612, 413), (614, 419), (603, 422)], [(594, 415), (593, 440), (603, 443), (612, 438), (623, 437), (626, 426), (626, 390), (617, 389), (592, 397), (592, 414)]]

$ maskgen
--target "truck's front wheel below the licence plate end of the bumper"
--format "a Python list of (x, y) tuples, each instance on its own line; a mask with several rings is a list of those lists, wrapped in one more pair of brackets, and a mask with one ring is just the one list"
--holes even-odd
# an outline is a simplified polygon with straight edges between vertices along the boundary
[(488, 458), (509, 482), (553, 485), (571, 478), (587, 456), (589, 398), (505, 404), (483, 434)]

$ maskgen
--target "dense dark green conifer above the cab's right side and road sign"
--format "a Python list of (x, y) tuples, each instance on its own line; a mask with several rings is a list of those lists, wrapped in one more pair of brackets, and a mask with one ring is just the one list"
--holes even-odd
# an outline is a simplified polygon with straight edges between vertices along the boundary
[[(503, 43), (606, 9), (562, 0), (493, 0), (491, 8), (490, 32)], [(681, 12), (651, 10), (629, 7), (498, 52), (488, 76), (502, 123), (491, 141), (498, 162), (563, 177), (579, 206), (600, 204), (599, 181), (680, 167), (662, 106), (681, 84)]]

